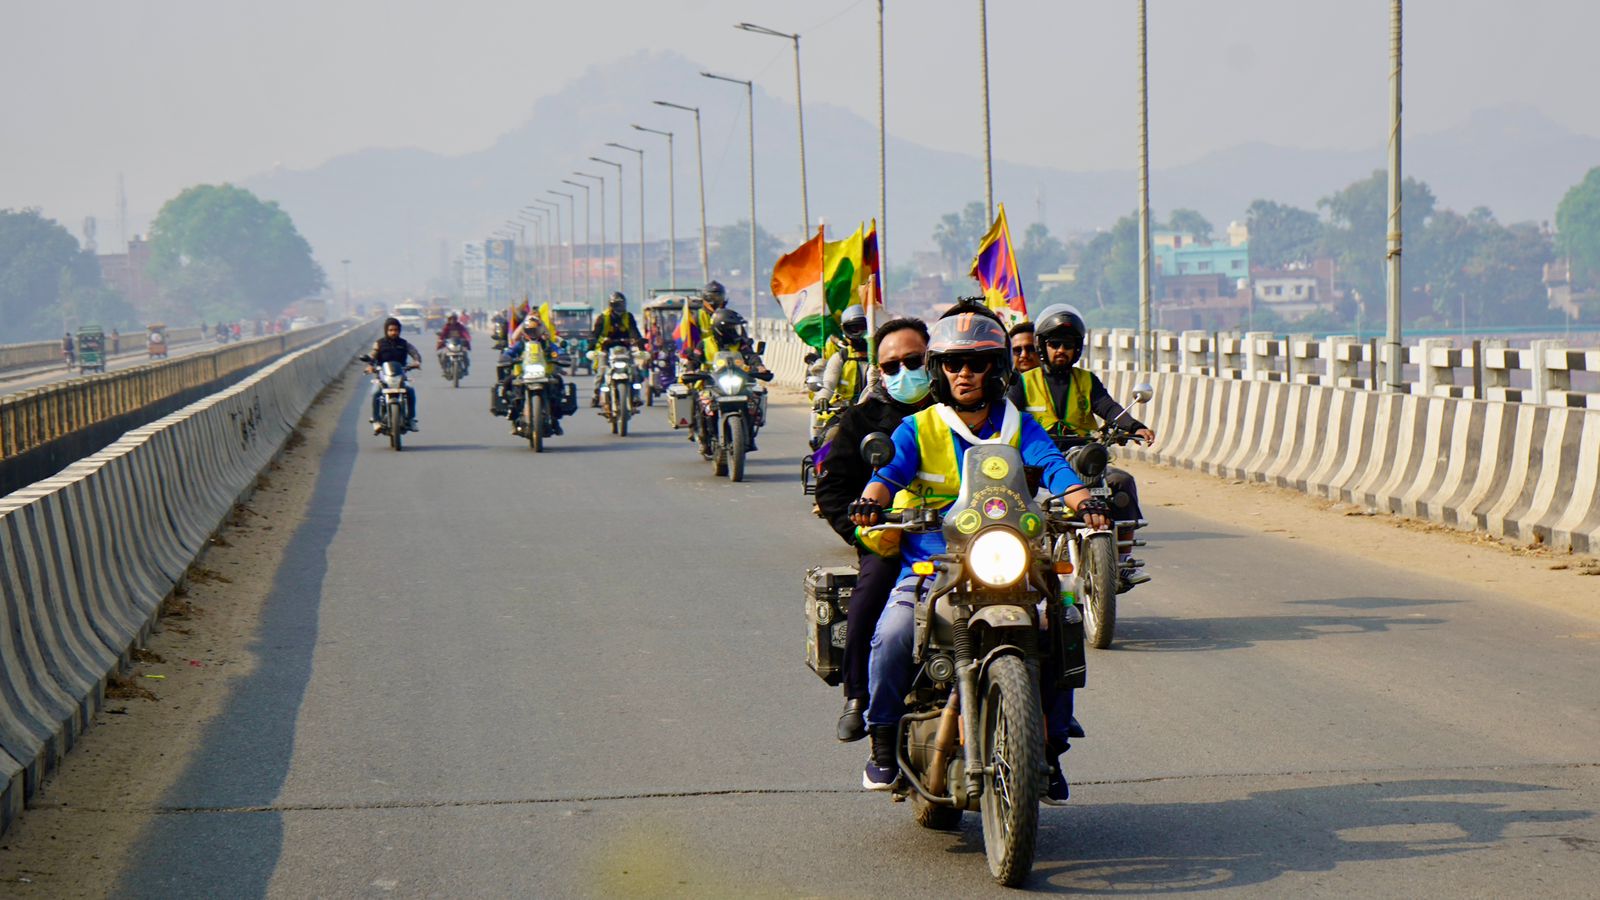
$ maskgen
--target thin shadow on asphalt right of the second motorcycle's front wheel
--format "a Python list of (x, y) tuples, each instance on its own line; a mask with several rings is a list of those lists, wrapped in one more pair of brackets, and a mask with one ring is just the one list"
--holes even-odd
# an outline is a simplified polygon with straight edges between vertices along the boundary
[[(1360, 597), (1370, 607), (1402, 607), (1413, 601), (1400, 597)], [(1317, 601), (1339, 605), (1336, 601)], [(1421, 604), (1446, 601), (1421, 601)], [(1126, 617), (1117, 620), (1115, 650), (1130, 652), (1197, 652), (1240, 650), (1267, 641), (1315, 641), (1347, 634), (1379, 634), (1395, 628), (1443, 625), (1443, 618), (1387, 615), (1254, 615), (1254, 617)]]

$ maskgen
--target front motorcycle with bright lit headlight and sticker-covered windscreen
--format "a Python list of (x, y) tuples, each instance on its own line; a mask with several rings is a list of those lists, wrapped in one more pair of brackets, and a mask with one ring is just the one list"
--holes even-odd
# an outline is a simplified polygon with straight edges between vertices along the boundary
[[(888, 464), (894, 444), (869, 434), (861, 456)], [(890, 511), (890, 524), (874, 527), (942, 530), (947, 543), (944, 554), (912, 567), (923, 586), (912, 637), (917, 674), (896, 732), (902, 777), (894, 799), (910, 796), (926, 828), (952, 830), (963, 812), (978, 812), (989, 873), (1008, 887), (1034, 868), (1050, 780), (1043, 663), (1054, 660), (1059, 689), (1083, 687), (1086, 671), (1083, 617), (1066, 567), (1051, 559), (1034, 477), (1014, 447), (981, 444), (962, 460), (960, 496), (949, 509)]]

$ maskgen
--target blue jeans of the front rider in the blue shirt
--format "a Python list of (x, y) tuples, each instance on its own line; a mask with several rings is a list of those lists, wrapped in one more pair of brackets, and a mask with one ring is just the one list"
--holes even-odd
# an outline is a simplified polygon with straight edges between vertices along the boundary
[[(878, 617), (872, 633), (872, 657), (867, 660), (867, 724), (898, 725), (906, 714), (906, 692), (917, 674), (912, 663), (912, 637), (917, 631), (915, 591), (918, 575), (907, 575), (894, 585), (890, 602)], [(1050, 741), (1067, 748), (1067, 729), (1072, 722), (1072, 692), (1056, 687), (1054, 665), (1040, 666), (1040, 700), (1045, 709), (1045, 730)]]

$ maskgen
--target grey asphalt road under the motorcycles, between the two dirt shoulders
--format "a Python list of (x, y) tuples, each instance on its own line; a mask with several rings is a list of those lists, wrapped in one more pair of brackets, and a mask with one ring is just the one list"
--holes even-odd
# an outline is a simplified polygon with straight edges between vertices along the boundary
[[(848, 552), (800, 410), (749, 484), (659, 407), (626, 439), (584, 407), (536, 456), (477, 362), (451, 391), (429, 360), (403, 453), (344, 410), (261, 665), (118, 895), (1000, 892), (976, 817), (917, 828), (834, 741), (800, 585)], [(1594, 895), (1600, 626), (1226, 509), (1149, 536), (1034, 890)]]

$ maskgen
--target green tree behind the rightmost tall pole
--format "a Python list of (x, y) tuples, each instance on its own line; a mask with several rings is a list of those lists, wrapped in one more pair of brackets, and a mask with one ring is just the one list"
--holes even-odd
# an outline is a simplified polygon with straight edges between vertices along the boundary
[[(1434, 192), (1427, 184), (1406, 178), (1400, 186), (1400, 227), (1411, 240), (1422, 234), (1434, 215)], [(1323, 197), (1317, 207), (1328, 211), (1328, 250), (1339, 261), (1344, 280), (1360, 293), (1363, 314), (1382, 315), (1389, 258), (1389, 175), (1378, 170), (1344, 191)], [(1422, 283), (1418, 277), (1422, 259), (1411, 253), (1413, 248), (1406, 248), (1402, 267), (1402, 291), (1406, 296)]]

